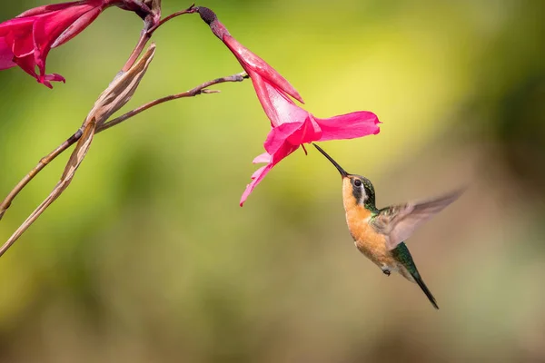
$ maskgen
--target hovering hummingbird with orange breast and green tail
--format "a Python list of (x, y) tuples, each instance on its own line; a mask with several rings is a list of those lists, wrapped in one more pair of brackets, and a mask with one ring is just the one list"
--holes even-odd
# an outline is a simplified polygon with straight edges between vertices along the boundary
[(452, 191), (429, 201), (407, 202), (378, 209), (374, 187), (369, 179), (345, 172), (320, 146), (312, 144), (341, 172), (342, 203), (356, 248), (379, 266), (385, 275), (390, 276), (395, 271), (418, 284), (433, 308), (439, 309), (412, 260), (405, 240), (424, 221), (456, 201), (463, 190)]

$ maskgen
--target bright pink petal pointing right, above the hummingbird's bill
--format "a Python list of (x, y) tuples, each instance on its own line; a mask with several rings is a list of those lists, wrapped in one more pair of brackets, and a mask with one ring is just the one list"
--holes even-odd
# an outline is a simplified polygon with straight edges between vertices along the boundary
[(329, 119), (316, 118), (322, 129), (319, 141), (354, 139), (379, 133), (381, 123), (376, 114), (367, 111), (346, 113)]

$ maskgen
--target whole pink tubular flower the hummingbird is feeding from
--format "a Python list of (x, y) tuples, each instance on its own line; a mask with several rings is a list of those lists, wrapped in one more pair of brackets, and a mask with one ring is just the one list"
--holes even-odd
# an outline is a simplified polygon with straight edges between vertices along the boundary
[[(278, 74), (263, 59), (250, 52), (237, 42), (220, 23), (212, 10), (199, 7), (203, 21), (218, 38), (233, 52), (250, 76), (253, 88), (263, 110), (271, 120), (272, 130), (264, 142), (265, 151), (253, 163), (266, 163), (252, 175), (252, 182), (246, 186), (240, 204), (252, 193), (272, 167), (294, 152), (305, 142), (353, 139), (380, 132), (379, 119), (374, 113), (360, 111), (319, 119), (312, 113), (296, 105), (289, 96), (302, 102), (301, 95), (295, 91), (282, 75)], [(304, 147), (303, 147), (304, 148)]]

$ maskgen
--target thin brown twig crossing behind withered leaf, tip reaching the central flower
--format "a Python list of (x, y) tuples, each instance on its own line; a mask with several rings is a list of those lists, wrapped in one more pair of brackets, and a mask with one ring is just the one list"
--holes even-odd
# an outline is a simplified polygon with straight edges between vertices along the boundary
[[(219, 83), (242, 82), (244, 78), (247, 78), (247, 77), (248, 75), (243, 72), (240, 74), (229, 75), (227, 77), (216, 78), (212, 81), (199, 84), (198, 86), (194, 87), (192, 90), (189, 90), (183, 93), (173, 94), (163, 98), (159, 98), (150, 103), (145, 103), (144, 105), (137, 107), (134, 110), (129, 111), (128, 113), (124, 113), (123, 115), (117, 118), (114, 118), (114, 120), (110, 121), (109, 123), (100, 124), (100, 126), (97, 128), (95, 133), (108, 130), (109, 128), (114, 127), (115, 125), (119, 123), (123, 123), (125, 120), (137, 115), (138, 113), (142, 113), (145, 110), (148, 110), (158, 104), (165, 103), (167, 101), (176, 100), (178, 98), (183, 98), (183, 97), (194, 97), (202, 93), (216, 93), (217, 91), (207, 90), (206, 88), (214, 84), (219, 84)], [(14, 201), (15, 197), (19, 194), (19, 192), (22, 191), (25, 188), (25, 186), (35, 178), (38, 172), (41, 172), (45, 168), (45, 166), (47, 166), (47, 164), (49, 164), (50, 162), (53, 162), (57, 156), (59, 156), (61, 153), (66, 151), (70, 146), (72, 146), (75, 142), (77, 142), (82, 137), (82, 132), (83, 132), (83, 129), (80, 128), (77, 132), (75, 132), (72, 136), (70, 136), (65, 142), (63, 142), (56, 149), (54, 149), (53, 152), (50, 152), (44, 158), (42, 158), (40, 162), (35, 166), (35, 168), (32, 171), (28, 172), (28, 174), (25, 175), (25, 177), (21, 180), (21, 182), (19, 182), (15, 186), (15, 188), (12, 191), (10, 191), (10, 193), (5, 197), (5, 200), (0, 203), (0, 220), (2, 220), (2, 217), (4, 217), (5, 211), (7, 211), (7, 209), (11, 206), (11, 203)]]

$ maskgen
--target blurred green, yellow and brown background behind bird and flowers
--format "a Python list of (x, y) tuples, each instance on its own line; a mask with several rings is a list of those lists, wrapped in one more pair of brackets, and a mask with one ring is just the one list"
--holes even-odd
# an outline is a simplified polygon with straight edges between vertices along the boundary
[[(1, 20), (45, 1), (9, 2)], [(190, 5), (164, 0), (168, 15)], [(353, 246), (317, 152), (243, 208), (269, 130), (250, 82), (100, 134), (64, 195), (0, 260), (1, 362), (545, 361), (545, 3), (210, 0), (319, 117), (370, 110), (378, 136), (322, 146), (379, 206), (471, 188), (409, 241), (441, 309)], [(0, 72), (0, 197), (84, 120), (133, 48), (115, 8), (47, 60), (51, 91)], [(154, 35), (131, 106), (241, 71), (198, 15)], [(68, 152), (0, 221), (8, 239)]]

